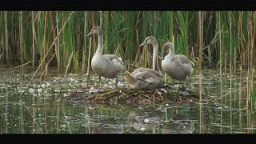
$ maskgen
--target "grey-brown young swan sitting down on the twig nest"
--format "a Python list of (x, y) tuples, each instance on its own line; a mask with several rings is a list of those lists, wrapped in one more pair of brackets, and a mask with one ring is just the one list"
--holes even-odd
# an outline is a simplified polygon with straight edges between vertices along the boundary
[(146, 37), (140, 46), (153, 45), (153, 69), (140, 67), (130, 74), (126, 71), (125, 77), (128, 86), (134, 90), (157, 89), (164, 85), (164, 78), (158, 68), (158, 41), (154, 36)]

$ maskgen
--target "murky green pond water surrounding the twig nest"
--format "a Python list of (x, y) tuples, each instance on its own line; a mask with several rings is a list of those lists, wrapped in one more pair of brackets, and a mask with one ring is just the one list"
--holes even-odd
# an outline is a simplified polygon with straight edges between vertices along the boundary
[[(204, 70), (203, 94), (213, 102), (170, 102), (154, 107), (65, 102), (61, 98), (70, 90), (85, 87), (86, 78), (82, 74), (66, 75), (63, 91), (58, 94), (63, 75), (52, 69), (42, 81), (41, 74), (37, 74), (21, 97), (34, 74), (30, 68), (23, 72), (25, 75), (21, 69), (0, 66), (1, 134), (255, 133), (256, 110), (246, 106), (246, 71), (240, 77), (238, 70), (230, 81), (229, 74), (223, 72), (220, 78), (218, 70)], [(95, 78), (90, 78), (90, 86), (94, 86)], [(102, 81), (104, 86), (114, 88), (114, 80)], [(121, 82), (126, 86), (124, 79)], [(198, 90), (198, 83), (198, 76), (194, 75), (190, 89)]]

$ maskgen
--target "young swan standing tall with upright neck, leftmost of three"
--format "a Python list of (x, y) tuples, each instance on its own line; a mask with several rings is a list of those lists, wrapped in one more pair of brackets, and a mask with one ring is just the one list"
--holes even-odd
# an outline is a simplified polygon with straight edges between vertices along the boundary
[(118, 74), (123, 69), (122, 58), (115, 54), (103, 54), (103, 30), (100, 26), (94, 26), (86, 37), (98, 34), (98, 48), (91, 60), (91, 67), (98, 74), (98, 86), (101, 85), (101, 77), (115, 78), (118, 87)]

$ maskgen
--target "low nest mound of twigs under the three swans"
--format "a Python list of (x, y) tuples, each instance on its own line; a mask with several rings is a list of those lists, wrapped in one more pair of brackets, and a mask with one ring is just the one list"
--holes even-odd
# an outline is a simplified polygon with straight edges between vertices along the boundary
[[(202, 97), (205, 97), (202, 95)], [(154, 104), (159, 102), (198, 102), (199, 94), (192, 90), (182, 90), (166, 85), (158, 90), (98, 90), (80, 89), (70, 92), (65, 99), (78, 103), (124, 103)]]

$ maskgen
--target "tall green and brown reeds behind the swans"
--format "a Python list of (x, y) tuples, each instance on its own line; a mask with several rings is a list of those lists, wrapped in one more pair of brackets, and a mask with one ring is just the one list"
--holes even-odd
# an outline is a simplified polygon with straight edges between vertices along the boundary
[[(72, 72), (84, 72), (88, 61), (89, 47), (85, 38), (92, 26), (100, 25), (100, 12), (76, 11), (58, 36), (54, 49), (43, 60), (46, 51), (63, 26), (69, 11), (2, 11), (0, 14), (0, 54), (2, 64), (20, 65), (22, 61), (32, 62), (41, 70), (58, 66), (66, 70), (72, 51), (74, 57), (70, 64)], [(142, 49), (139, 44), (149, 35), (159, 42), (159, 53), (164, 42), (174, 36), (175, 51), (198, 61), (198, 17), (195, 11), (102, 11), (104, 31), (104, 53), (118, 54), (126, 63), (126, 69), (139, 65), (150, 67), (152, 48)], [(236, 66), (242, 68), (255, 66), (254, 30), (255, 13), (249, 11), (206, 11), (202, 27), (202, 68), (229, 66), (235, 72)], [(250, 26), (248, 22), (250, 21)], [(219, 25), (221, 24), (221, 25)], [(249, 30), (250, 29), (250, 30)], [(249, 32), (250, 31), (250, 32)], [(250, 39), (250, 41), (249, 41)], [(93, 50), (97, 49), (97, 38), (93, 38)], [(193, 48), (193, 50), (192, 50)], [(52, 58), (56, 53), (56, 57)], [(193, 53), (193, 54), (191, 54)], [(142, 55), (146, 57), (142, 57)], [(250, 59), (248, 61), (248, 55)], [(51, 61), (50, 61), (51, 60)], [(250, 63), (252, 62), (252, 63)], [(226, 65), (225, 65), (226, 63)], [(233, 66), (233, 68), (231, 67)]]

